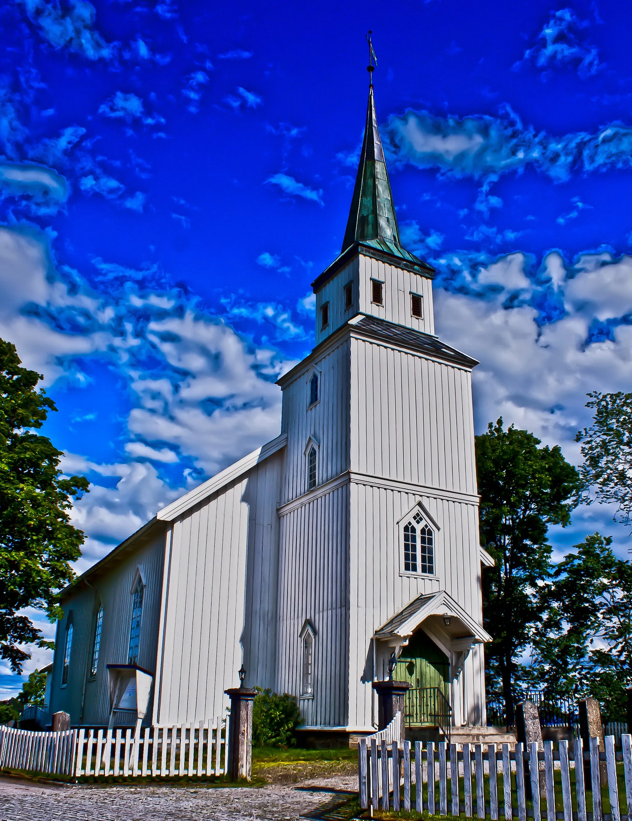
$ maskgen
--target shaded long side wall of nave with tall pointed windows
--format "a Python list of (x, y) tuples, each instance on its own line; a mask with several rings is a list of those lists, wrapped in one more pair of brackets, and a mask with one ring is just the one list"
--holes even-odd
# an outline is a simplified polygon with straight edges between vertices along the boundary
[[(144, 578), (143, 615), (140, 625), (139, 665), (155, 672), (158, 648), (158, 619), (163, 585), (165, 535), (157, 529), (148, 544), (122, 554), (116, 562), (77, 585), (62, 599), (66, 617), (73, 613), (73, 636), (68, 685), (62, 687), (63, 648), (66, 617), (57, 623), (57, 638), (51, 683), (51, 712), (70, 713), (71, 724), (107, 724), (110, 695), (106, 664), (126, 664), (130, 643), (132, 585), (137, 573)], [(96, 677), (89, 677), (94, 646), (98, 603), (103, 605), (103, 628)], [(148, 715), (151, 713), (149, 712)]]

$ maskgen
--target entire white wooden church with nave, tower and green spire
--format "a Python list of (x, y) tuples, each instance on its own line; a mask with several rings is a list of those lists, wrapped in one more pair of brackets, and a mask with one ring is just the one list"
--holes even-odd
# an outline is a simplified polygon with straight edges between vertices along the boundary
[(145, 724), (199, 722), (225, 713), (243, 664), (246, 686), (295, 696), (309, 736), (342, 741), (377, 726), (395, 652), (407, 732), (437, 724), (438, 701), (453, 727), (486, 724), (477, 363), (435, 335), (432, 281), (401, 246), (371, 88), (342, 252), (313, 283), (316, 345), (278, 380), (279, 436), (62, 592), (52, 712), (135, 724), (110, 688), (140, 669)]

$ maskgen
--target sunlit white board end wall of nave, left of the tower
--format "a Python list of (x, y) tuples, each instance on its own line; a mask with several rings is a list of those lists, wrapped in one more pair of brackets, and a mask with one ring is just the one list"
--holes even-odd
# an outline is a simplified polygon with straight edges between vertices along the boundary
[(160, 724), (222, 715), (242, 661), (247, 686), (273, 686), (282, 466), (273, 454), (173, 525)]

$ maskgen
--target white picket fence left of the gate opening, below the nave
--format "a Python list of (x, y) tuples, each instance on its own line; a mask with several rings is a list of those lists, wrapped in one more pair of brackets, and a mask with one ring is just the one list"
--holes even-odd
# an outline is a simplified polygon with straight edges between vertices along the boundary
[(0, 727), (0, 769), (76, 778), (204, 777), (227, 773), (227, 727), (199, 725), (124, 730), (35, 732)]

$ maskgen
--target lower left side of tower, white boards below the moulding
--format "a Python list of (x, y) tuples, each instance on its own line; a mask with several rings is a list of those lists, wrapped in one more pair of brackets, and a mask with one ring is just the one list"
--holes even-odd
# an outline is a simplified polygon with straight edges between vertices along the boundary
[(314, 625), (314, 695), (300, 699), (307, 727), (347, 723), (349, 486), (281, 517), (277, 692), (301, 695), (300, 630)]

